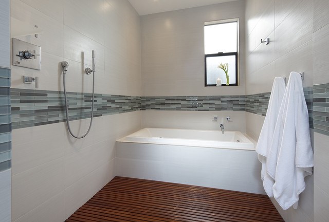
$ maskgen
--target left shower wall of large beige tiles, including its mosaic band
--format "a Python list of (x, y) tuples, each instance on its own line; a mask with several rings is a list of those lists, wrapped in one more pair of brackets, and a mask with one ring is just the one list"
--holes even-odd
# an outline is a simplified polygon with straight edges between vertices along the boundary
[[(115, 141), (141, 127), (134, 107), (141, 96), (140, 17), (129, 1), (41, 2), (10, 1), (13, 18), (41, 30), (38, 38), (16, 38), (41, 46), (42, 60), (40, 71), (11, 66), (13, 222), (64, 221), (116, 175)], [(69, 63), (70, 125), (81, 136), (90, 121), (93, 76), (84, 69), (92, 66), (92, 50), (97, 118), (76, 140), (62, 122), (60, 63)], [(23, 75), (38, 76), (39, 89)]]

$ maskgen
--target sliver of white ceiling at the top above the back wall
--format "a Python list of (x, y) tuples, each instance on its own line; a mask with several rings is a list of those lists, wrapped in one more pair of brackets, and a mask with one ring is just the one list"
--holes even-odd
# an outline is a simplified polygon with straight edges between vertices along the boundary
[(129, 0), (139, 15), (174, 11), (236, 0)]

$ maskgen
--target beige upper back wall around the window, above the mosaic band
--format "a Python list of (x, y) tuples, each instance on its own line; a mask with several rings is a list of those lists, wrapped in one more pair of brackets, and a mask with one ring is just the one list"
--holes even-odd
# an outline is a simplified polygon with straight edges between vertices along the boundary
[[(228, 17), (241, 24), (240, 86), (205, 87), (204, 22)], [(142, 95), (244, 95), (243, 24), (242, 1), (142, 16)]]

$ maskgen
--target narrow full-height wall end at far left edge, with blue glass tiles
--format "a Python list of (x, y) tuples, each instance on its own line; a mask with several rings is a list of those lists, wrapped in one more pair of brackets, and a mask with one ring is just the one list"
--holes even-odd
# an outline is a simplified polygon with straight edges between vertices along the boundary
[(11, 222), (10, 0), (0, 2), (0, 221)]

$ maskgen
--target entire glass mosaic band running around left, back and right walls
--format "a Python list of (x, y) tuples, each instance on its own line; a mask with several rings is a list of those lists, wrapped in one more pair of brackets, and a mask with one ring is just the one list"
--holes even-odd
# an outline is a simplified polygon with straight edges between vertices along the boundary
[[(313, 87), (304, 88), (313, 128)], [(270, 93), (248, 96), (131, 97), (95, 96), (94, 116), (136, 110), (246, 111), (266, 115)], [(91, 94), (68, 93), (70, 120), (89, 118)], [(22, 128), (65, 121), (64, 94), (60, 91), (11, 89), (12, 127)]]

